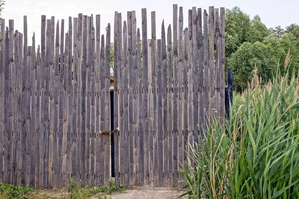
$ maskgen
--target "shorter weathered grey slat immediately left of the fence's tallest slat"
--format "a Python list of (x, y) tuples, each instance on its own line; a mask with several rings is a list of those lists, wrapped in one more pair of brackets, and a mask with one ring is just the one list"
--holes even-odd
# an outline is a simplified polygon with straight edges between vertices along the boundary
[(172, 33), (171, 26), (167, 28), (167, 133), (168, 133), (168, 161), (169, 182), (167, 187), (173, 186), (173, 115), (172, 115)]

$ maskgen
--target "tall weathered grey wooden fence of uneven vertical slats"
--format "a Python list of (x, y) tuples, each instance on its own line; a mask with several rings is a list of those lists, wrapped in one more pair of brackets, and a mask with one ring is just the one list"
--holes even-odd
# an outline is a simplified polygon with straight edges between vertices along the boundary
[(66, 34), (63, 19), (55, 29), (54, 17), (42, 15), (37, 52), (34, 33), (28, 46), (26, 16), (23, 33), (1, 19), (0, 182), (107, 185), (112, 138), (116, 185), (180, 186), (188, 144), (201, 140), (209, 119), (225, 115), (224, 12), (192, 7), (183, 30), (174, 4), (173, 27), (165, 32), (163, 21), (161, 39), (154, 11), (151, 39), (146, 9), (141, 30), (135, 11), (127, 20), (115, 12), (113, 99), (111, 28), (105, 43), (100, 15), (96, 27), (93, 15), (69, 17)]

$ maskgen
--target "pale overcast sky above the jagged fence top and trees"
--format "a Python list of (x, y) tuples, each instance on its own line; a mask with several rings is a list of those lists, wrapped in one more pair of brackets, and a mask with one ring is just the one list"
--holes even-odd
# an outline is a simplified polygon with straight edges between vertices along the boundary
[[(6, 0), (1, 17), (14, 19), (14, 30), (23, 32), (23, 16), (27, 15), (28, 46), (31, 45), (31, 37), (35, 31), (36, 44), (40, 44), (40, 19), (46, 15), (47, 19), (55, 16), (57, 20), (65, 19), (65, 28), (68, 29), (68, 17), (78, 17), (78, 13), (84, 15), (101, 14), (101, 34), (106, 34), (105, 28), (111, 23), (111, 36), (113, 36), (114, 12), (122, 13), (122, 19), (127, 19), (127, 11), (136, 10), (137, 27), (141, 28), (141, 9), (147, 8), (148, 14), (148, 38), (150, 38), (150, 12), (156, 11), (156, 35), (161, 37), (161, 22), (164, 19), (165, 28), (168, 24), (172, 27), (172, 4), (183, 6), (184, 26), (187, 26), (188, 9), (192, 6), (207, 9), (213, 5), (231, 9), (239, 6), (242, 11), (252, 18), (259, 14), (262, 22), (269, 27), (281, 25), (283, 28), (291, 23), (299, 24), (299, 0)], [(113, 39), (111, 40), (113, 41)], [(36, 45), (37, 47), (37, 45)]]

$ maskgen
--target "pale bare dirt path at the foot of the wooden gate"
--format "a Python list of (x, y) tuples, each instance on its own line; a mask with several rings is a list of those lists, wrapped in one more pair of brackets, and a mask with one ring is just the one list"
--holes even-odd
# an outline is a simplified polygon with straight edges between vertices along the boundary
[[(154, 188), (149, 186), (132, 187), (121, 194), (112, 195), (112, 199), (176, 199), (184, 192), (175, 188)], [(183, 199), (187, 199), (184, 197)]]

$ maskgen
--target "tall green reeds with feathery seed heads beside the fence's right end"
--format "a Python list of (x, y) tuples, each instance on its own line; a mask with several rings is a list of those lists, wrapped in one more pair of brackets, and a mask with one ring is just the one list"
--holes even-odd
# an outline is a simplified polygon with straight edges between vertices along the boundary
[(299, 198), (299, 79), (253, 79), (230, 120), (215, 119), (188, 152), (180, 172), (189, 198)]

